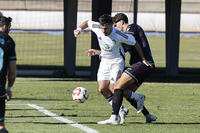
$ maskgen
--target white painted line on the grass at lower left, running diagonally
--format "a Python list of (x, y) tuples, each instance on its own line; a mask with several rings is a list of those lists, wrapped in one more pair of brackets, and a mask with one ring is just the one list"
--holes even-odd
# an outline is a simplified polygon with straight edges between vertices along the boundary
[(56, 115), (56, 114), (50, 112), (49, 110), (47, 110), (47, 109), (45, 109), (45, 108), (43, 108), (43, 107), (37, 106), (36, 104), (6, 104), (6, 105), (28, 105), (29, 107), (35, 108), (35, 109), (36, 109), (37, 111), (39, 111), (39, 112), (42, 112), (42, 113), (44, 113), (44, 114), (46, 114), (46, 115), (48, 115), (48, 116), (51, 116), (52, 118), (55, 118), (55, 119), (57, 119), (57, 120), (59, 120), (59, 121), (62, 121), (62, 122), (64, 122), (64, 123), (67, 123), (67, 124), (69, 124), (70, 126), (79, 128), (79, 129), (81, 129), (81, 130), (83, 130), (83, 131), (85, 131), (85, 132), (87, 132), (87, 133), (98, 133), (98, 131), (96, 131), (96, 130), (94, 130), (94, 129), (92, 129), (92, 128), (83, 126), (83, 125), (81, 125), (81, 124), (75, 123), (75, 122), (73, 122), (73, 121), (71, 121), (71, 120), (68, 120), (68, 119), (66, 119), (66, 118), (63, 118), (63, 117), (61, 117), (61, 116), (58, 116), (58, 115)]

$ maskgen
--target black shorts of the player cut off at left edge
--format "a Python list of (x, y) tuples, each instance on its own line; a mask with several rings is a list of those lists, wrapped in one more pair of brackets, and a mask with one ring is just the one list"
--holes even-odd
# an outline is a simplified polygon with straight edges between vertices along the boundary
[(3, 122), (5, 117), (5, 108), (6, 108), (5, 99), (6, 95), (0, 96), (0, 122)]

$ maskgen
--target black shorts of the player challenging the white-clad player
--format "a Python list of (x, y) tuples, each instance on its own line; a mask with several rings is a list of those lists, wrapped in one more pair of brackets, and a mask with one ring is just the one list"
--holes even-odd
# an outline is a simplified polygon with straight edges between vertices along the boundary
[(140, 86), (144, 80), (149, 77), (154, 68), (146, 66), (143, 62), (139, 61), (125, 70), (125, 73), (131, 76), (135, 80), (135, 84)]

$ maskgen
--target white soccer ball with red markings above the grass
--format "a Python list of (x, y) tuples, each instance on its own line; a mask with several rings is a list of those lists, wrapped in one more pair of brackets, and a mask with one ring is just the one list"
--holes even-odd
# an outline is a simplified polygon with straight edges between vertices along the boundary
[(72, 92), (72, 98), (77, 103), (84, 103), (89, 97), (89, 93), (84, 87), (77, 87)]

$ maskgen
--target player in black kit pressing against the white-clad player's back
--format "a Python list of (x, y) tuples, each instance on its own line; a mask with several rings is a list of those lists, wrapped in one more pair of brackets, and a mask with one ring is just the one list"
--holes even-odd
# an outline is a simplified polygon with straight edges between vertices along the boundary
[(143, 29), (137, 24), (128, 24), (128, 18), (123, 13), (118, 13), (113, 17), (114, 26), (123, 32), (132, 34), (137, 43), (140, 45), (145, 58), (151, 64), (146, 66), (141, 57), (138, 56), (135, 47), (125, 46), (125, 50), (131, 55), (130, 67), (125, 70), (121, 78), (115, 84), (114, 96), (113, 96), (113, 111), (110, 119), (99, 122), (100, 124), (116, 124), (116, 117), (118, 117), (119, 107), (122, 104), (123, 96), (138, 110), (138, 113), (142, 111), (146, 117), (145, 123), (151, 123), (157, 119), (156, 116), (151, 115), (148, 110), (144, 107), (145, 96), (134, 93), (142, 82), (151, 75), (155, 68), (151, 50), (149, 47), (148, 40), (144, 34)]

